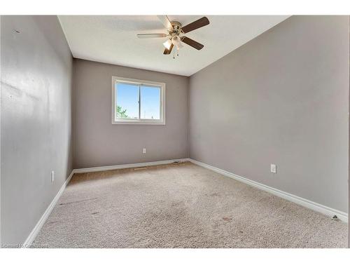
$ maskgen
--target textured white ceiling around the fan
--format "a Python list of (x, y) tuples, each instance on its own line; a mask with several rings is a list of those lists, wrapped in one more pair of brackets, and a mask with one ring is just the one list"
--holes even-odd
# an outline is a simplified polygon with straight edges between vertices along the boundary
[[(182, 25), (202, 15), (168, 15)], [(138, 39), (137, 33), (167, 33), (156, 15), (60, 15), (74, 58), (190, 76), (288, 18), (287, 15), (207, 15), (210, 25), (186, 36), (179, 57), (163, 55), (166, 39)]]

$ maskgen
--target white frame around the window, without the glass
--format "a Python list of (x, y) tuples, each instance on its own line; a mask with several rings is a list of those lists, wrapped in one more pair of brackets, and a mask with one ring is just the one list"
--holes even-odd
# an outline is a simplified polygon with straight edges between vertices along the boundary
[[(156, 86), (160, 88), (160, 119), (116, 119), (116, 83), (130, 83), (136, 85)], [(119, 76), (112, 76), (112, 124), (140, 124), (140, 125), (165, 125), (165, 83), (154, 81), (142, 81), (140, 79), (126, 79)], [(141, 101), (139, 97), (139, 115)], [(140, 118), (140, 116), (139, 116)]]

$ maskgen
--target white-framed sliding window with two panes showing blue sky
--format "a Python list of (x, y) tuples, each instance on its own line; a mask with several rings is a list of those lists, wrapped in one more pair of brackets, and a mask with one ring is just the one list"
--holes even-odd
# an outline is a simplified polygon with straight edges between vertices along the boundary
[(112, 124), (165, 124), (165, 83), (112, 77)]

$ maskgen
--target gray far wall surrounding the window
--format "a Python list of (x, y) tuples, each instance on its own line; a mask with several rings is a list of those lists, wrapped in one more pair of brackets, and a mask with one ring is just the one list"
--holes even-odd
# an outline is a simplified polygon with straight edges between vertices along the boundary
[[(188, 77), (87, 60), (73, 65), (74, 168), (188, 157)], [(165, 82), (166, 125), (112, 125), (112, 76)]]

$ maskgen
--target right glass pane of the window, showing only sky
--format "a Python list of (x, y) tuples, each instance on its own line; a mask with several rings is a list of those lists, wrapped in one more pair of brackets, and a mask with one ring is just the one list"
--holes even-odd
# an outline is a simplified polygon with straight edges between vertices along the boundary
[(160, 119), (160, 88), (141, 86), (141, 119)]

